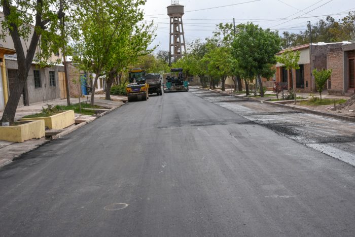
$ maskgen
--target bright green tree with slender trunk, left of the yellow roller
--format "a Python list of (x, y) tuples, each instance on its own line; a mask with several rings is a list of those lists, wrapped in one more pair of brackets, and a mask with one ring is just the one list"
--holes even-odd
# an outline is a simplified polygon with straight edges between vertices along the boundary
[(115, 69), (118, 55), (124, 54), (125, 42), (129, 42), (131, 33), (143, 30), (143, 35), (150, 34), (152, 24), (137, 25), (144, 17), (139, 6), (144, 5), (145, 0), (83, 2), (85, 4), (77, 15), (82, 32), (79, 59), (86, 71), (95, 74), (90, 100), (94, 105), (97, 79)]

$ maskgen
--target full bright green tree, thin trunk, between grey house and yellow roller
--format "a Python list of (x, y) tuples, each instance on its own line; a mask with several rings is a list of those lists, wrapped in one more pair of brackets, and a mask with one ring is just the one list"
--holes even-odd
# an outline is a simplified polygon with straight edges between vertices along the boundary
[(140, 6), (145, 3), (145, 0), (85, 1), (76, 12), (81, 40), (75, 45), (75, 61), (82, 70), (96, 74), (94, 85), (99, 76), (122, 72), (138, 56), (155, 49), (148, 50), (155, 38), (153, 22), (141, 22), (144, 13)]

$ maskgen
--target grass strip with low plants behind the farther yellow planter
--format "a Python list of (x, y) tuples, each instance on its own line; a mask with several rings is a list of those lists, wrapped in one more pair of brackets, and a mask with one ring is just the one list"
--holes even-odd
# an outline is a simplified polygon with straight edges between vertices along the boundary
[(40, 118), (40, 117), (49, 117), (55, 114), (59, 114), (61, 112), (63, 112), (64, 110), (74, 110), (74, 113), (77, 114), (83, 114), (83, 115), (95, 115), (95, 111), (94, 110), (85, 110), (86, 108), (90, 108), (90, 109), (104, 109), (101, 106), (91, 106), (90, 104), (85, 104), (85, 103), (80, 103), (81, 104), (81, 112), (79, 109), (79, 103), (78, 104), (73, 104), (70, 106), (60, 106), (60, 105), (56, 105), (56, 106), (51, 106), (48, 105), (48, 108), (43, 108), (41, 113), (37, 113), (37, 114), (31, 114), (31, 115), (26, 115), (23, 116), (23, 118)]

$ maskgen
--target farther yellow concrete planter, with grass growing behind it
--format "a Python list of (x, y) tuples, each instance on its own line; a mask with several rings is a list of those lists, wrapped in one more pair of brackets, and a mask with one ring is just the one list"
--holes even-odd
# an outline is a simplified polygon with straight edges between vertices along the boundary
[(74, 110), (67, 110), (49, 117), (22, 118), (21, 121), (44, 120), (49, 129), (63, 129), (75, 123)]

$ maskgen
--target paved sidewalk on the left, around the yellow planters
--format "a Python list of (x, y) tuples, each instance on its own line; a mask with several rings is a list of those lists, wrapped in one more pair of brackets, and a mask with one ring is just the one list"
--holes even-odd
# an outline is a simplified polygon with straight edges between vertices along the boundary
[[(86, 124), (94, 121), (96, 118), (103, 116), (106, 113), (111, 112), (112, 110), (122, 106), (125, 104), (127, 101), (126, 96), (116, 96), (116, 95), (111, 95), (112, 100), (106, 100), (104, 99), (104, 95), (95, 95), (95, 105), (102, 106), (104, 108), (107, 108), (105, 112), (97, 115), (97, 116), (89, 116), (89, 115), (81, 115), (81, 114), (75, 114), (75, 119), (76, 121), (79, 121), (79, 124), (74, 124), (72, 126), (69, 126), (67, 128), (64, 128), (60, 133), (56, 134), (55, 136), (52, 137), (52, 139), (58, 139), (66, 134), (82, 127), (85, 126)], [(81, 100), (82, 102), (86, 103), (86, 97), (85, 99)], [(70, 104), (77, 104), (79, 103), (79, 98), (70, 98)], [(90, 96), (88, 99), (88, 103), (90, 103)], [(17, 108), (16, 115), (15, 115), (15, 120), (19, 120), (25, 115), (30, 115), (30, 114), (35, 114), (35, 113), (40, 113), (42, 112), (42, 107), (47, 107), (47, 105), (66, 105), (67, 101), (66, 99), (61, 99), (61, 100), (55, 100), (55, 101), (50, 101), (46, 103), (37, 103), (34, 105), (30, 106), (20, 106)], [(0, 112), (0, 117), (3, 115), (3, 112)], [(47, 130), (50, 131), (50, 130)], [(31, 150), (34, 150), (51, 140), (46, 140), (45, 138), (42, 139), (31, 139), (28, 141), (25, 141), (23, 143), (14, 143), (14, 142), (8, 142), (8, 141), (2, 141), (0, 140), (0, 167), (12, 162), (15, 160), (17, 157), (21, 156), (22, 154), (29, 152)]]

